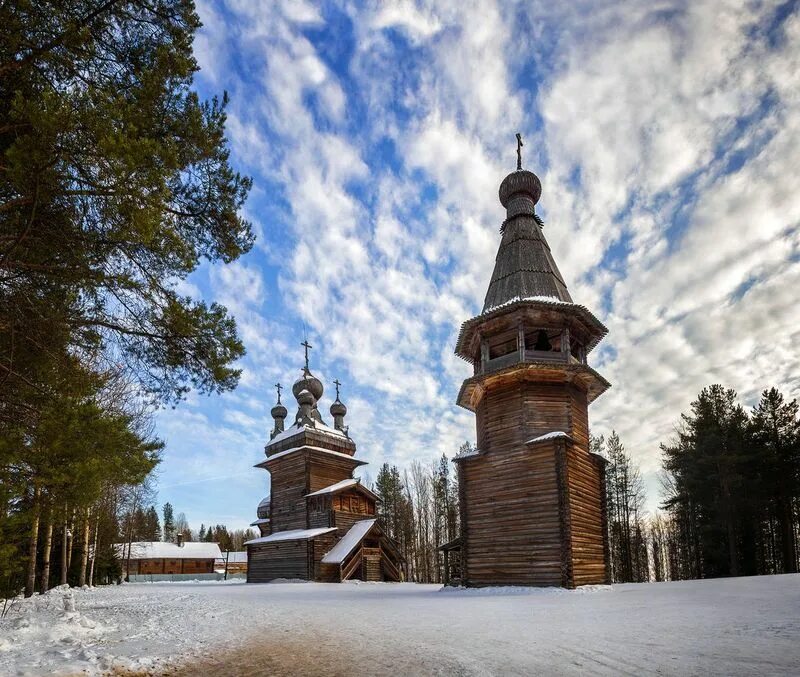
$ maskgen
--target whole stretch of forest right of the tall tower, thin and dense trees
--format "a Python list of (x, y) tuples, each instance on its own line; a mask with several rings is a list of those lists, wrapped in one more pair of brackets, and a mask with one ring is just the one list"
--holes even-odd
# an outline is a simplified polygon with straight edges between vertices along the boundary
[(704, 388), (663, 444), (662, 510), (644, 513), (641, 473), (619, 437), (605, 453), (614, 582), (795, 573), (800, 537), (798, 403), (775, 388), (747, 411), (736, 392)]

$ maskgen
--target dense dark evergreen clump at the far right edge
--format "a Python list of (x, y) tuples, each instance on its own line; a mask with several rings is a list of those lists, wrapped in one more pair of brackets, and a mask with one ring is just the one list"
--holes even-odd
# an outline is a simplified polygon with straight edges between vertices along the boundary
[(797, 572), (795, 400), (771, 388), (748, 412), (733, 390), (705, 388), (662, 452), (672, 578)]

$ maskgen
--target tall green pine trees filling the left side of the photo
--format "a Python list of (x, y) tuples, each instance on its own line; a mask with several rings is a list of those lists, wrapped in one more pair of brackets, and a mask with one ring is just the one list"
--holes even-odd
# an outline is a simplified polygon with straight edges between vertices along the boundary
[[(235, 387), (225, 308), (176, 286), (253, 242), (191, 3), (0, 4), (0, 596), (113, 561), (153, 407)], [(89, 561), (96, 544), (97, 558)], [(108, 571), (107, 571), (108, 570)]]

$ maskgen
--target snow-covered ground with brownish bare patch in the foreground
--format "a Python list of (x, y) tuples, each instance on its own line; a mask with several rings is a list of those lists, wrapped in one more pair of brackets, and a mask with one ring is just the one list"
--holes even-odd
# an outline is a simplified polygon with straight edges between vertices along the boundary
[(800, 575), (576, 591), (204, 582), (69, 595), (34, 596), (0, 621), (0, 674), (800, 672)]

